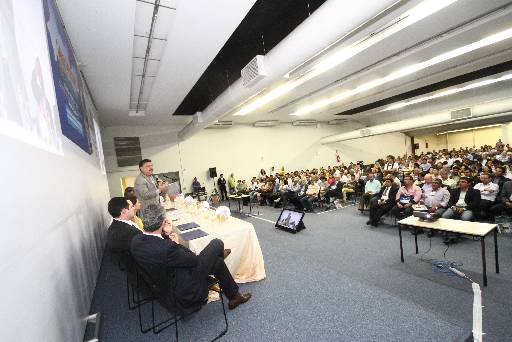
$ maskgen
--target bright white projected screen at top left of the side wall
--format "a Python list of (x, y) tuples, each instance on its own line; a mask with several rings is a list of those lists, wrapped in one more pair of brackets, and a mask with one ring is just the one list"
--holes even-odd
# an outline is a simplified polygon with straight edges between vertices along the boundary
[(40, 1), (0, 1), (0, 133), (62, 153)]

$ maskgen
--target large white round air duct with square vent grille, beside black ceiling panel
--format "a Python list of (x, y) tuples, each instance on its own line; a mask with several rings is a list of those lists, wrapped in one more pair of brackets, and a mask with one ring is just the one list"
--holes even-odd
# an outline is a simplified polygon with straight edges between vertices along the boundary
[[(191, 122), (178, 136), (186, 139), (207, 127), (245, 99), (265, 87), (282, 80), (296, 66), (313, 57), (361, 23), (366, 22), (389, 6), (402, 1), (381, 0), (368, 6), (365, 1), (329, 0), (304, 20), (295, 30), (265, 56), (266, 77), (251, 88), (238, 79), (203, 111), (204, 122)], [(307, 42), (305, 44), (304, 42)], [(293, 52), (293, 53), (292, 53)]]

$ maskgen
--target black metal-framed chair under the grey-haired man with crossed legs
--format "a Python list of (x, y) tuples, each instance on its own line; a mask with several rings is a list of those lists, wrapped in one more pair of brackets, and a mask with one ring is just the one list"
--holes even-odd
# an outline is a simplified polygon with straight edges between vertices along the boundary
[[(198, 305), (197, 308), (193, 308), (189, 312), (183, 312), (180, 310), (176, 303), (176, 296), (175, 296), (175, 270), (173, 269), (170, 271), (171, 273), (168, 274), (167, 279), (171, 280), (170, 284), (168, 281), (165, 281), (164, 279), (157, 280), (156, 278), (152, 277), (150, 272), (145, 270), (143, 267), (141, 267), (138, 263), (135, 262), (135, 268), (137, 270), (137, 275), (139, 280), (147, 286), (147, 288), (150, 289), (152, 297), (149, 300), (151, 303), (151, 326), (149, 328), (143, 327), (143, 319), (142, 319), (142, 310), (141, 307), (146, 302), (143, 302), (141, 305), (138, 306), (138, 313), (139, 313), (139, 324), (141, 332), (146, 333), (150, 330), (153, 331), (154, 334), (159, 334), (163, 330), (171, 327), (174, 325), (175, 327), (175, 335), (176, 335), (176, 341), (179, 340), (178, 336), (178, 322), (185, 317), (190, 316), (191, 314), (199, 311), (201, 309), (201, 305)], [(219, 293), (220, 296), (220, 302), (222, 305), (222, 311), (224, 314), (224, 322), (225, 322), (225, 328), (218, 334), (212, 341), (216, 341), (222, 336), (226, 334), (228, 331), (228, 318), (226, 316), (226, 308), (224, 306), (224, 298), (222, 296), (222, 289), (219, 286), (219, 281), (215, 279), (213, 276), (209, 276), (209, 289), (216, 291)], [(170, 285), (170, 286), (169, 286)], [(137, 294), (137, 299), (139, 299), (139, 296)], [(155, 301), (158, 301), (158, 303), (165, 308), (169, 314), (170, 317), (167, 319), (164, 319), (158, 323), (155, 322)]]

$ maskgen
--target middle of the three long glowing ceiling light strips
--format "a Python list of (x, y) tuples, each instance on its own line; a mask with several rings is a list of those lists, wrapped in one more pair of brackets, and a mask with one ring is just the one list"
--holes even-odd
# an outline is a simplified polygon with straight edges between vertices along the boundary
[(496, 44), (498, 42), (501, 42), (503, 40), (509, 39), (511, 37), (512, 37), (512, 28), (509, 28), (507, 30), (504, 30), (504, 31), (501, 31), (499, 33), (493, 34), (493, 35), (491, 35), (489, 37), (486, 37), (486, 38), (481, 39), (479, 41), (476, 41), (474, 43), (471, 43), (471, 44), (468, 44), (468, 45), (464, 45), (464, 46), (459, 47), (457, 49), (454, 49), (454, 50), (448, 51), (446, 53), (443, 53), (441, 55), (438, 55), (436, 57), (430, 58), (430, 59), (428, 59), (428, 60), (426, 60), (424, 62), (420, 62), (420, 63), (416, 63), (416, 64), (413, 64), (413, 65), (410, 65), (408, 67), (405, 67), (403, 69), (395, 71), (395, 72), (389, 74), (388, 76), (385, 76), (385, 77), (382, 77), (382, 78), (378, 78), (378, 79), (375, 79), (373, 81), (364, 83), (364, 84), (360, 85), (359, 87), (357, 87), (355, 89), (343, 91), (343, 92), (340, 92), (340, 93), (338, 93), (338, 94), (336, 94), (334, 96), (331, 96), (331, 97), (319, 100), (319, 101), (317, 101), (317, 102), (315, 102), (313, 104), (310, 104), (310, 105), (304, 106), (302, 108), (299, 108), (297, 111), (291, 113), (290, 115), (300, 116), (300, 115), (305, 115), (305, 114), (311, 113), (311, 112), (316, 111), (318, 109), (321, 109), (323, 107), (326, 107), (326, 106), (332, 105), (334, 103), (340, 102), (340, 101), (342, 101), (342, 100), (344, 100), (344, 99), (346, 99), (346, 98), (348, 98), (350, 96), (354, 96), (354, 95), (360, 94), (360, 93), (362, 93), (364, 91), (368, 91), (368, 90), (377, 88), (377, 87), (379, 87), (381, 85), (384, 85), (386, 83), (395, 81), (395, 80), (403, 78), (405, 76), (409, 76), (409, 75), (414, 74), (414, 73), (416, 73), (418, 71), (425, 70), (425, 69), (427, 69), (429, 67), (432, 67), (432, 66), (437, 65), (437, 64), (442, 63), (442, 62), (446, 62), (446, 61), (448, 61), (450, 59), (462, 56), (462, 55), (464, 55), (466, 53), (478, 50), (480, 48), (483, 48), (483, 47), (486, 47), (486, 46), (489, 46), (489, 45), (492, 45), (492, 44)]

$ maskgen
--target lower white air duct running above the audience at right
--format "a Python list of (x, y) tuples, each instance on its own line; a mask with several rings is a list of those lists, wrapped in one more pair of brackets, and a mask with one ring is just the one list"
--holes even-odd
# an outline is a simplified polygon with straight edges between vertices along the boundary
[[(472, 115), (471, 117), (469, 117), (468, 120), (457, 120), (457, 122), (466, 122), (469, 120), (477, 121), (491, 115), (512, 112), (512, 97), (476, 104), (471, 108), (471, 112)], [(325, 145), (339, 141), (358, 139), (362, 137), (393, 132), (404, 132), (419, 128), (431, 127), (434, 125), (451, 124), (453, 122), (454, 121), (452, 120), (452, 112), (450, 110), (447, 110), (430, 115), (421, 115), (411, 119), (389, 122), (383, 125), (366, 127), (364, 129), (358, 129), (347, 133), (331, 135), (321, 139), (320, 143), (322, 145)]]

